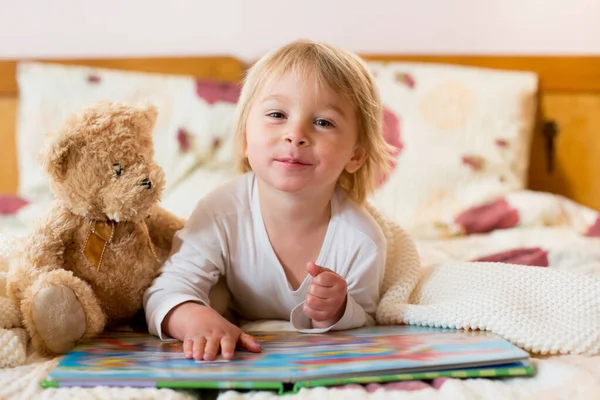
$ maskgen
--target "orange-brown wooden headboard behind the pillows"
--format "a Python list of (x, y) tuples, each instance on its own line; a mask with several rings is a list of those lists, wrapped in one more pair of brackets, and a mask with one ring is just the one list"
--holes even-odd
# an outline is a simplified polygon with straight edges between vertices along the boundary
[[(529, 188), (600, 210), (600, 57), (363, 55), (370, 60), (425, 61), (533, 71), (540, 77), (539, 123), (531, 148)], [(124, 70), (191, 74), (238, 81), (243, 63), (230, 57), (51, 60)], [(15, 61), (0, 61), (0, 193), (18, 184)]]

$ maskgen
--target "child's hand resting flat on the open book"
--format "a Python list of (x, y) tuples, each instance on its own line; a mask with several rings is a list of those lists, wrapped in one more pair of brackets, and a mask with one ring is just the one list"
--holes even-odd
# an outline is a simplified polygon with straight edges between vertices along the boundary
[(177, 338), (183, 341), (183, 353), (186, 358), (212, 361), (220, 351), (223, 358), (230, 360), (238, 345), (255, 353), (261, 351), (253, 336), (243, 332), (210, 307), (183, 303), (172, 313), (171, 316), (167, 316), (167, 324), (179, 325), (172, 328), (180, 332)]

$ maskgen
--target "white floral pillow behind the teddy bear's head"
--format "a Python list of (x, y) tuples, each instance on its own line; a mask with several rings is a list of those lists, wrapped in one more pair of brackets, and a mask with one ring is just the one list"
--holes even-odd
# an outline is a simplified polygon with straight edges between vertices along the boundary
[(173, 190), (200, 165), (232, 165), (231, 132), (237, 83), (164, 75), (23, 62), (18, 65), (17, 155), (21, 197), (51, 198), (37, 162), (44, 135), (73, 112), (98, 100), (149, 101), (159, 111), (155, 159)]

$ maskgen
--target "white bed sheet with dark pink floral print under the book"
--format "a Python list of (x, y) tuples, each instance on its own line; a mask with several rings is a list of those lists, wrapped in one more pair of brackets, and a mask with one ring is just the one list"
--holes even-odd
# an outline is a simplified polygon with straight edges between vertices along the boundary
[[(480, 233), (449, 237), (419, 238), (415, 242), (423, 265), (450, 261), (489, 260), (530, 265), (531, 268), (559, 268), (600, 275), (600, 234), (598, 217), (589, 209), (566, 199), (519, 193), (528, 204), (519, 207), (520, 224), (504, 228), (488, 224)], [(11, 215), (0, 216), (0, 255), (10, 250), (11, 241), (24, 235), (28, 225), (46, 204), (27, 204)], [(489, 221), (489, 215), (482, 218)], [(591, 224), (590, 224), (591, 221)], [(594, 222), (596, 221), (596, 222)], [(0, 272), (0, 288), (4, 271)], [(2, 295), (0, 290), (0, 295)], [(259, 322), (248, 329), (290, 329), (281, 322)], [(39, 381), (57, 362), (41, 358), (31, 348), (25, 365), (0, 369), (2, 399), (197, 399), (201, 393), (170, 389), (41, 389)], [(414, 381), (384, 386), (304, 389), (296, 399), (589, 399), (600, 393), (600, 356), (548, 356), (533, 358), (537, 373), (529, 378), (448, 379), (435, 384)], [(269, 392), (224, 391), (219, 400), (276, 399)]]

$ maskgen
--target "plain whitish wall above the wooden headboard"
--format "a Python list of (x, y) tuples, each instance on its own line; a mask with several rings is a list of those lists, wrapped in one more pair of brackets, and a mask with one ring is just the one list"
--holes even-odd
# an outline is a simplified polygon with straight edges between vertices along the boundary
[(600, 54), (600, 0), (0, 0), (0, 58), (251, 59), (300, 37), (370, 53)]

